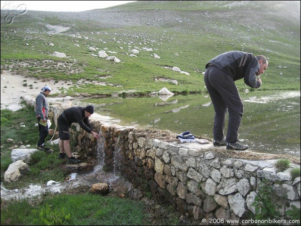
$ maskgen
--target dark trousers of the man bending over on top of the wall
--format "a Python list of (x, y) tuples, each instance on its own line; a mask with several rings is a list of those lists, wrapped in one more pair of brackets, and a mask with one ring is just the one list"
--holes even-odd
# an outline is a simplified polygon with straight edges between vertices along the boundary
[(228, 110), (229, 121), (226, 141), (228, 143), (236, 142), (244, 105), (233, 79), (213, 65), (206, 69), (204, 81), (215, 111), (214, 140), (224, 139), (225, 119)]

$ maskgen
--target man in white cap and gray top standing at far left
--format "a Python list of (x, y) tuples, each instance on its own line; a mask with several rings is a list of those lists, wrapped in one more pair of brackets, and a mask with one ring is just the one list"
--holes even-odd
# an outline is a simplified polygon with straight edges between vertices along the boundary
[(49, 134), (48, 131), (48, 102), (46, 97), (50, 94), (51, 88), (48, 85), (45, 85), (41, 88), (40, 92), (36, 97), (36, 116), (39, 124), (39, 141), (37, 149), (45, 152), (52, 151), (50, 148), (45, 146), (45, 138)]

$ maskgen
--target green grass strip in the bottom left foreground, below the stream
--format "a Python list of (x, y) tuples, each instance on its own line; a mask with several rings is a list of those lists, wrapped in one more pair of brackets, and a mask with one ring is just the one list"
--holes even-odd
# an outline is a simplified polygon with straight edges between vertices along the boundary
[(39, 215), (47, 204), (53, 212), (64, 208), (70, 213), (67, 225), (144, 225), (142, 202), (88, 193), (48, 196), (34, 206), (25, 200), (9, 203), (1, 208), (1, 225), (47, 225)]

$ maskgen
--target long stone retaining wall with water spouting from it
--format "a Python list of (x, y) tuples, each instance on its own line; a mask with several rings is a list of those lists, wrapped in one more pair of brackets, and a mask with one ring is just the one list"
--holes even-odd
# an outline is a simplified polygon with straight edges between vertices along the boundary
[[(54, 123), (60, 111), (50, 107)], [(212, 144), (165, 142), (97, 116), (91, 124), (101, 135), (98, 141), (77, 124), (71, 128), (72, 140), (87, 161), (103, 161), (106, 170), (120, 173), (145, 195), (182, 214), (239, 220), (255, 214), (252, 203), (262, 184), (282, 198), (284, 205), (277, 210), (283, 217), (292, 205), (300, 208), (300, 177), (292, 179), (290, 169), (277, 172), (276, 160), (223, 157)]]

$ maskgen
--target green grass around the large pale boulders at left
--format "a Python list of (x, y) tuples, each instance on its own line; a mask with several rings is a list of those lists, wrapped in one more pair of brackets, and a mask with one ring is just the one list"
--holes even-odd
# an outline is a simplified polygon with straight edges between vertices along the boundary
[[(31, 155), (30, 171), (20, 180), (14, 183), (4, 181), (4, 173), (12, 163), (12, 147), (19, 148), (21, 145), (30, 145), (35, 148), (39, 139), (39, 130), (33, 106), (15, 111), (1, 110), (1, 182), (9, 189), (27, 186), (29, 183), (46, 184), (49, 180), (63, 181), (68, 171), (61, 167), (62, 160), (57, 159), (59, 149), (51, 147), (52, 154), (35, 152)], [(24, 127), (25, 126), (25, 127)], [(50, 136), (46, 141), (50, 140)], [(8, 142), (12, 139), (12, 142)]]

